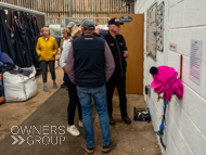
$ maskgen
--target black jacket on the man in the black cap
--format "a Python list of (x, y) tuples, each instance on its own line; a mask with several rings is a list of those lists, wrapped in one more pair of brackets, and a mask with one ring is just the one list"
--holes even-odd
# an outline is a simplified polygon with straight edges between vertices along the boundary
[(121, 35), (117, 35), (115, 39), (110, 34), (110, 31), (107, 31), (107, 34), (104, 35), (103, 38), (106, 40), (114, 56), (115, 70), (113, 76), (125, 76), (127, 70), (127, 62), (124, 57), (124, 51), (127, 51), (127, 46), (124, 37)]

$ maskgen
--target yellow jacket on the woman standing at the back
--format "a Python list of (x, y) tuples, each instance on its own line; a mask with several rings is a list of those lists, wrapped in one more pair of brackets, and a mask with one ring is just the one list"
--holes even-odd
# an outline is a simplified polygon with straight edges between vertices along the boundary
[(57, 42), (51, 36), (47, 41), (44, 37), (40, 37), (37, 41), (36, 52), (39, 55), (39, 61), (55, 61), (57, 49)]

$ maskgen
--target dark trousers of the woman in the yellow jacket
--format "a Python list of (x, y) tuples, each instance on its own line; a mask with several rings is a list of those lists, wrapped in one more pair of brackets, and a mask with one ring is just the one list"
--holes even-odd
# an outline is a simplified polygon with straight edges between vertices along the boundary
[(49, 68), (50, 68), (52, 80), (55, 79), (55, 62), (54, 61), (48, 61), (48, 62), (41, 61), (41, 69), (42, 69), (43, 82), (47, 82), (48, 65), (49, 65)]

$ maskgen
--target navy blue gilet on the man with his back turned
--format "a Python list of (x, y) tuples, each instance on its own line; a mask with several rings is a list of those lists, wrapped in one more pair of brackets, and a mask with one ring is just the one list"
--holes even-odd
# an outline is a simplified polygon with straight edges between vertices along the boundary
[(81, 36), (72, 43), (76, 85), (83, 88), (98, 88), (105, 85), (105, 40), (95, 36)]

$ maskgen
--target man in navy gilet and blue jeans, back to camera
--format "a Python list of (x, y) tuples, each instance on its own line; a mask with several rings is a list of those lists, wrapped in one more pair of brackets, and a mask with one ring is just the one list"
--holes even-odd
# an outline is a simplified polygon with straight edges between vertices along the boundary
[(72, 41), (66, 64), (70, 81), (77, 86), (82, 108), (86, 141), (81, 143), (81, 147), (87, 153), (93, 153), (94, 131), (91, 106), (91, 96), (93, 96), (102, 131), (102, 151), (107, 153), (116, 147), (116, 142), (111, 140), (105, 89), (105, 82), (115, 68), (114, 59), (106, 41), (93, 36), (95, 28), (93, 21), (85, 20), (81, 26), (85, 34)]

